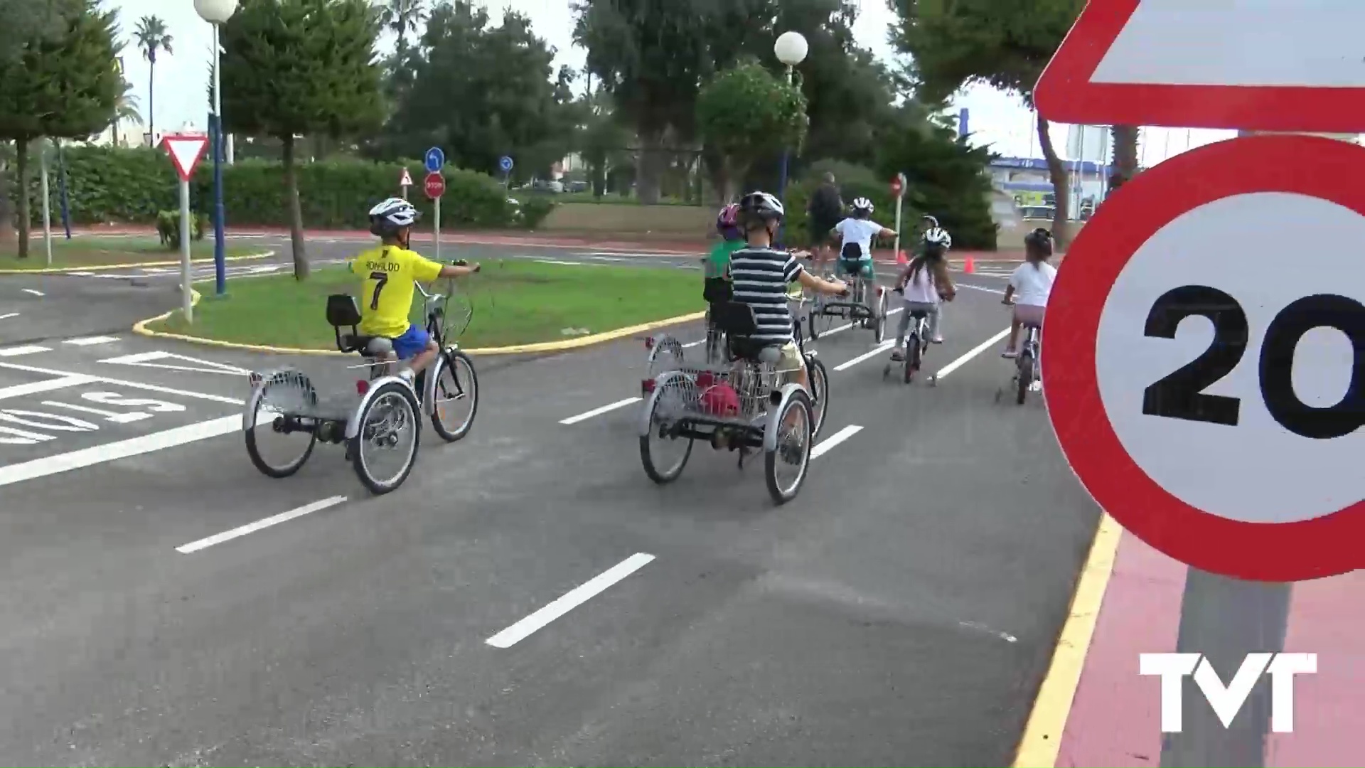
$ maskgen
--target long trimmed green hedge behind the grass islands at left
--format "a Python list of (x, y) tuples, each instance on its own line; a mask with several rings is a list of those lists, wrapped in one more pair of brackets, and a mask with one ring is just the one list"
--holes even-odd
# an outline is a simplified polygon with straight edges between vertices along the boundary
[[(149, 224), (157, 213), (180, 206), (175, 169), (165, 152), (149, 148), (113, 149), (106, 146), (68, 146), (67, 194), (75, 224)], [(30, 165), (37, 165), (31, 163)], [(366, 227), (371, 205), (399, 194), (399, 179), (407, 165), (416, 186), (408, 198), (423, 212), (430, 224), (431, 202), (422, 194), (423, 168), (419, 161), (369, 163), (364, 160), (326, 160), (300, 163), (299, 204), (303, 225), (322, 230)], [(550, 209), (528, 206), (517, 215), (506, 201), (502, 184), (485, 174), (445, 169), (445, 197), (441, 200), (442, 228), (535, 227)], [(37, 174), (34, 174), (37, 176)], [(60, 210), (59, 186), (52, 179), (53, 217)], [(202, 163), (190, 184), (190, 205), (212, 212), (213, 165)], [(29, 180), (31, 210), (41, 215), (38, 179)], [(224, 168), (222, 197), (228, 225), (287, 227), (288, 195), (284, 168), (268, 160), (240, 160)]]

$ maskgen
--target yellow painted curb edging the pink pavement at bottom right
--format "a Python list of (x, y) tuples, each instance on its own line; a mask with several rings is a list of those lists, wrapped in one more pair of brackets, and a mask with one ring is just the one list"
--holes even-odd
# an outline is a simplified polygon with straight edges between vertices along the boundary
[(1011, 768), (1057, 765), (1066, 719), (1072, 713), (1072, 701), (1081, 682), (1085, 656), (1089, 653), (1091, 641), (1095, 640), (1095, 625), (1099, 622), (1100, 605), (1104, 603), (1104, 592), (1114, 573), (1114, 556), (1122, 537), (1123, 527), (1104, 514), (1091, 543), (1091, 553), (1085, 558), (1081, 578), (1076, 584), (1070, 614), (1057, 637), (1052, 663), (1043, 676), (1043, 685), (1039, 686), (1037, 698), (1033, 700), (1033, 711), (1029, 712), (1028, 723), (1024, 726), (1024, 737), (1020, 738)]

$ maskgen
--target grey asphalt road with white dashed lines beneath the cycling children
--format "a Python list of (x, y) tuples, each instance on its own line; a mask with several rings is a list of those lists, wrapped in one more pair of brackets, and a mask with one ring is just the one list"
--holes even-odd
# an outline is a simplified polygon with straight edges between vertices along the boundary
[(472, 433), (389, 496), (332, 447), (269, 480), (242, 372), (354, 373), (131, 336), (175, 305), (139, 282), (0, 279), (0, 765), (1009, 764), (1099, 510), (1041, 399), (995, 402), (999, 279), (962, 276), (938, 387), (818, 343), (829, 443), (781, 508), (703, 445), (644, 477), (639, 403), (603, 410), (642, 340), (476, 359)]

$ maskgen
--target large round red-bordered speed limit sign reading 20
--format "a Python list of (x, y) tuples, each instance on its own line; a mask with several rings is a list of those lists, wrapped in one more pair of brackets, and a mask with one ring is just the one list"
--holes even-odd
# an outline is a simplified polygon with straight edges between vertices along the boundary
[(1263, 135), (1104, 202), (1058, 272), (1043, 391), (1091, 496), (1166, 555), (1304, 581), (1365, 566), (1365, 149)]

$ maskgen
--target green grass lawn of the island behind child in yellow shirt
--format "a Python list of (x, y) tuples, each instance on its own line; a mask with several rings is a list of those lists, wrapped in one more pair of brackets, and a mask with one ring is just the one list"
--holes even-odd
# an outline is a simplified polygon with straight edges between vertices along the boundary
[[(461, 303), (472, 307), (459, 338), (470, 348), (565, 340), (704, 309), (700, 273), (677, 269), (485, 261), (482, 272), (456, 284), (448, 328), (464, 325)], [(326, 297), (358, 287), (341, 266), (318, 269), (304, 283), (288, 275), (239, 279), (228, 298), (198, 305), (192, 327), (179, 313), (147, 327), (269, 347), (336, 348)], [(435, 288), (448, 292), (448, 282)], [(412, 320), (425, 324), (422, 297), (414, 297)]]

